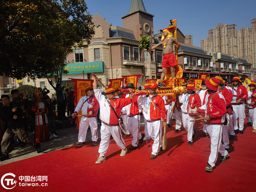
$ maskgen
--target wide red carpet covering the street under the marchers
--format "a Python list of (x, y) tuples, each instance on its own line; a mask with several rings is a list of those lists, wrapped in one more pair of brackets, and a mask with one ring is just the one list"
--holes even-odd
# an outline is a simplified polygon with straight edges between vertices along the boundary
[[(210, 138), (203, 137), (202, 123), (197, 123), (193, 146), (188, 146), (187, 132), (183, 127), (178, 134), (174, 134), (174, 128), (169, 128), (167, 150), (159, 152), (153, 160), (149, 159), (150, 142), (146, 145), (143, 141), (138, 149), (128, 150), (122, 157), (115, 141), (110, 140), (107, 160), (101, 164), (95, 164), (99, 145), (91, 146), (92, 142), (89, 142), (81, 148), (73, 146), (2, 165), (0, 177), (11, 172), (18, 182), (13, 189), (1, 186), (0, 191), (255, 191), (256, 134), (247, 126), (245, 124), (243, 135), (238, 134), (235, 140), (230, 140), (230, 158), (226, 162), (219, 162), (219, 154), (212, 173), (205, 172)], [(124, 136), (124, 140), (129, 148), (132, 137)], [(20, 176), (47, 176), (47, 181), (27, 184), (47, 183), (48, 186), (19, 186), (19, 182), (26, 183), (19, 180)], [(13, 179), (12, 176), (5, 178)], [(11, 188), (14, 185), (5, 186)]]

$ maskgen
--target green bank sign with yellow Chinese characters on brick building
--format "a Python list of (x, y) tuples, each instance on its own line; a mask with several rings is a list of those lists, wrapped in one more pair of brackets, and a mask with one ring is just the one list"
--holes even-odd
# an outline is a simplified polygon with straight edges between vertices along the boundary
[(82, 63), (68, 63), (65, 70), (68, 71), (68, 74), (77, 74), (77, 73), (97, 73), (103, 72), (103, 61), (95, 62), (82, 62)]

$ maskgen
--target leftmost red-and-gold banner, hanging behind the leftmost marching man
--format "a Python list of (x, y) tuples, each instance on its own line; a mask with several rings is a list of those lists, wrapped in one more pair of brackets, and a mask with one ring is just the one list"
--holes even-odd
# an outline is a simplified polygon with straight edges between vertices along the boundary
[[(93, 80), (92, 79), (71, 79), (71, 81), (74, 81), (74, 96), (76, 97), (74, 100), (75, 106), (77, 105), (78, 101), (85, 96), (85, 87), (91, 86), (93, 88)], [(82, 110), (79, 111), (77, 115), (85, 115), (82, 114)], [(80, 124), (81, 117), (76, 117), (75, 123), (77, 124), (76, 129), (79, 130), (79, 124)]]

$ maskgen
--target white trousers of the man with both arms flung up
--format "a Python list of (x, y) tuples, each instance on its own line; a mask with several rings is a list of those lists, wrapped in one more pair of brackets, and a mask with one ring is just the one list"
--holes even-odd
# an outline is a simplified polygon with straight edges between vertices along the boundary
[(116, 144), (120, 149), (125, 149), (125, 142), (119, 126), (108, 126), (104, 123), (101, 123), (100, 135), (100, 156), (105, 156), (105, 153), (107, 153), (110, 135), (112, 135), (113, 139), (116, 141)]

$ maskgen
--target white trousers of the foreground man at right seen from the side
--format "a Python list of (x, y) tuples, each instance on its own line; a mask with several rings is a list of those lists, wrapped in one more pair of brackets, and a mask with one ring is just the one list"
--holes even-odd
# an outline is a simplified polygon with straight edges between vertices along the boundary
[(211, 137), (211, 154), (208, 163), (212, 167), (214, 167), (217, 161), (218, 152), (220, 152), (221, 156), (228, 155), (228, 151), (225, 150), (221, 143), (222, 126), (223, 125), (206, 124), (206, 129)]

